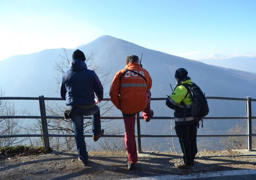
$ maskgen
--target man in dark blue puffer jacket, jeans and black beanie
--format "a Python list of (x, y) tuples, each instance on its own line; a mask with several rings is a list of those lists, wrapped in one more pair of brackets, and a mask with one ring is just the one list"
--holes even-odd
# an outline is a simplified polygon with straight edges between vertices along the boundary
[[(103, 134), (101, 129), (99, 107), (103, 99), (103, 87), (94, 71), (87, 69), (84, 53), (74, 51), (69, 70), (65, 72), (60, 84), (60, 95), (70, 109), (65, 111), (65, 118), (71, 118), (75, 133), (78, 162), (88, 165), (88, 153), (84, 141), (84, 116), (91, 116), (93, 141)], [(95, 99), (94, 92), (97, 96)], [(95, 104), (96, 103), (96, 104)]]

